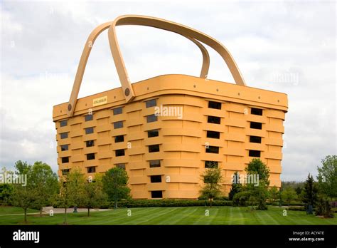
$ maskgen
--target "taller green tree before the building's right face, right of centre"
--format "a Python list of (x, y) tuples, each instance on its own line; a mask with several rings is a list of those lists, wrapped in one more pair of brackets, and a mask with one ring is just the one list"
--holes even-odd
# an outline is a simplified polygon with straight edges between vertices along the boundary
[(245, 189), (257, 200), (257, 210), (267, 210), (267, 198), (269, 187), (269, 168), (258, 158), (253, 158), (245, 171), (248, 175), (258, 176), (257, 184), (247, 184)]

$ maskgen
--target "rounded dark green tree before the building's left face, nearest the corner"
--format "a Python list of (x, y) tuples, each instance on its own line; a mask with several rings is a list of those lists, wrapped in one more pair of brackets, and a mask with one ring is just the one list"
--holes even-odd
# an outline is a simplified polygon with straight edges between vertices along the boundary
[(102, 177), (103, 191), (114, 201), (114, 208), (117, 208), (117, 202), (130, 197), (130, 188), (127, 186), (129, 176), (127, 172), (119, 167), (114, 167)]

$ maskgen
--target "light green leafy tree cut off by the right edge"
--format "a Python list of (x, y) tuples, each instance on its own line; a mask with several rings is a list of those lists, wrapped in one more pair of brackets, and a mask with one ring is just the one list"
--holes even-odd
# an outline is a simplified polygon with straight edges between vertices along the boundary
[(327, 197), (337, 197), (337, 155), (328, 155), (321, 163), (322, 167), (317, 167), (319, 188)]

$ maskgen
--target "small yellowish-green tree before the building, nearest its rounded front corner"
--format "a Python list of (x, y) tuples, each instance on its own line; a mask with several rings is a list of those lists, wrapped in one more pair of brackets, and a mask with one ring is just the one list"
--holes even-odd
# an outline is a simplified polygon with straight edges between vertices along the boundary
[(200, 195), (206, 197), (210, 200), (210, 207), (212, 207), (212, 200), (221, 194), (222, 180), (220, 168), (209, 168), (206, 169), (202, 175), (205, 185), (202, 190), (200, 190)]

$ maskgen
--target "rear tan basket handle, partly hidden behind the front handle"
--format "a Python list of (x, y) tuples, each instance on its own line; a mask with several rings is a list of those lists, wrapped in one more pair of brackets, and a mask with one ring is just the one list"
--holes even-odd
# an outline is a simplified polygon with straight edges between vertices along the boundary
[[(82, 83), (82, 78), (85, 72), (85, 67), (87, 66), (87, 59), (89, 58), (90, 51), (92, 46), (95, 43), (95, 40), (97, 36), (102, 33), (102, 31), (105, 31), (105, 29), (108, 29), (110, 25), (112, 25), (113, 22), (107, 22), (105, 24), (101, 24), (100, 26), (97, 26), (91, 33), (90, 36), (87, 38), (87, 43), (85, 43), (85, 47), (83, 48), (82, 55), (80, 58), (80, 63), (77, 67), (77, 72), (75, 76), (75, 81), (73, 84), (73, 90), (71, 91), (69, 103), (68, 103), (68, 116), (73, 116), (75, 105), (77, 102), (78, 93), (80, 92), (80, 86)], [(198, 41), (196, 41), (194, 38), (190, 38), (188, 36), (185, 36), (182, 34), (182, 36), (188, 38), (190, 41), (196, 44), (198, 48), (200, 48), (201, 53), (203, 54), (203, 66), (201, 67), (200, 71), (200, 78), (207, 78), (208, 70), (210, 68), (210, 56), (208, 54), (207, 49)], [(117, 67), (117, 66), (116, 66)]]

